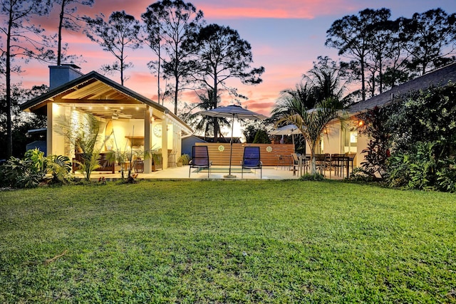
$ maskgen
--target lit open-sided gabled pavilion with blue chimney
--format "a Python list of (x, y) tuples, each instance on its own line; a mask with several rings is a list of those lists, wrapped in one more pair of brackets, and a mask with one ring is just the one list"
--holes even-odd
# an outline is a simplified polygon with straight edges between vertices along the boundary
[[(60, 115), (78, 119), (91, 113), (100, 121), (105, 139), (102, 152), (109, 150), (155, 150), (166, 169), (169, 155), (180, 155), (182, 137), (192, 129), (162, 105), (92, 71), (83, 74), (77, 65), (49, 66), (49, 91), (21, 105), (21, 110), (47, 117), (46, 150), (73, 159), (75, 149), (56, 132)], [(151, 159), (144, 159), (150, 173)]]

